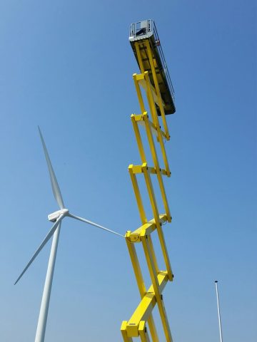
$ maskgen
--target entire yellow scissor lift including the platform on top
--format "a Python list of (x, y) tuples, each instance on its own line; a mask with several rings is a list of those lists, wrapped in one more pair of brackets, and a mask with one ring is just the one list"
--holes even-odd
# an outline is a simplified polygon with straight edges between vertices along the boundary
[[(142, 342), (161, 342), (158, 339), (156, 326), (152, 316), (153, 308), (157, 304), (166, 341), (172, 342), (162, 292), (166, 283), (173, 280), (173, 272), (168, 259), (162, 225), (166, 222), (171, 222), (171, 213), (163, 185), (163, 176), (171, 176), (164, 142), (170, 139), (166, 115), (173, 114), (176, 111), (174, 92), (153, 20), (144, 20), (131, 24), (129, 41), (131, 42), (133, 53), (136, 56), (136, 61), (138, 62), (141, 71), (139, 74), (133, 74), (133, 81), (135, 83), (141, 113), (138, 115), (131, 115), (133, 130), (136, 135), (136, 142), (141, 157), (141, 164), (129, 165), (129, 175), (131, 177), (133, 191), (136, 196), (136, 203), (141, 217), (141, 227), (134, 232), (126, 232), (126, 244), (129, 249), (133, 271), (136, 276), (141, 302), (129, 321), (122, 322), (121, 334), (124, 338), (124, 342), (132, 342), (133, 338), (137, 337), (141, 338)], [(143, 100), (142, 91), (146, 93), (146, 101)], [(147, 102), (146, 105), (147, 108), (149, 108), (149, 113), (146, 111), (144, 102)], [(159, 117), (161, 118), (161, 123)], [(143, 147), (143, 139), (138, 127), (139, 125), (146, 130), (146, 137), (150, 147), (153, 165), (148, 165), (146, 160), (146, 151)], [(163, 128), (161, 128), (161, 126)], [(156, 143), (160, 145), (161, 157), (163, 158), (164, 165), (163, 169), (159, 164)], [(146, 217), (141, 192), (138, 187), (136, 178), (138, 174), (143, 174), (146, 182), (148, 197), (153, 212), (153, 219), (150, 220)], [(163, 208), (165, 210), (164, 213), (159, 212), (160, 205), (156, 202), (156, 195), (151, 177), (157, 177), (158, 186), (161, 190)], [(157, 232), (158, 240), (161, 244), (161, 251), (166, 265), (165, 270), (160, 270), (158, 268), (156, 254), (151, 239), (151, 234), (154, 231)], [(152, 282), (149, 289), (146, 289), (143, 281), (135, 244), (141, 244), (143, 247)]]

